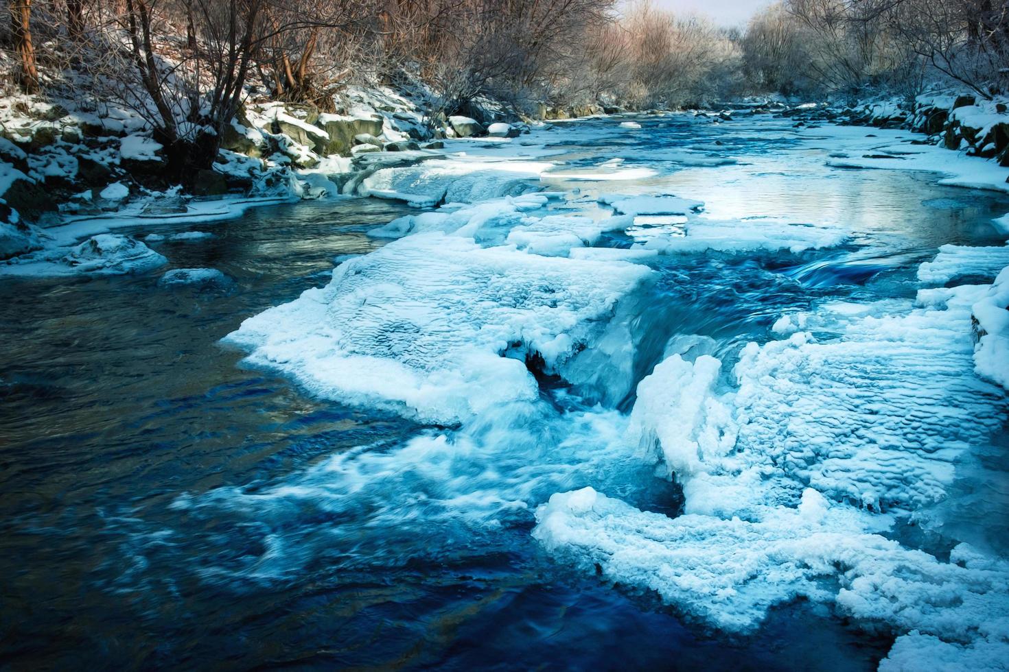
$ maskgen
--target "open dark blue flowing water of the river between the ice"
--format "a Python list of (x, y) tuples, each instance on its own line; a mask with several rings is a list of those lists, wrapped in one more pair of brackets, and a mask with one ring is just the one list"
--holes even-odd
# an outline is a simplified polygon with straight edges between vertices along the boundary
[[(913, 297), (914, 270), (939, 245), (1003, 242), (989, 222), (1009, 212), (1009, 199), (939, 187), (929, 174), (828, 168), (832, 148), (800, 145), (782, 122), (736, 130), (659, 118), (621, 136), (614, 125), (543, 134), (567, 175), (544, 181), (573, 194), (566, 208), (594, 213), (599, 192), (669, 190), (704, 200), (712, 217), (856, 232), (815, 252), (660, 257), (652, 265), (661, 278), (640, 301), (646, 356), (636, 380), (677, 333), (708, 337), (709, 351), (731, 364), (743, 344), (766, 342), (783, 311)], [(739, 162), (684, 167), (670, 148), (693, 148), (695, 163)], [(576, 178), (613, 157), (656, 174)], [(519, 421), (528, 436), (477, 427), (483, 445), (460, 445), (445, 465), (403, 447), (430, 429), (313, 399), (220, 345), (242, 319), (326, 282), (335, 257), (376, 249), (366, 229), (408, 210), (373, 199), (273, 207), (190, 225), (211, 239), (151, 244), (173, 267), (222, 270), (235, 280), (225, 289), (158, 287), (164, 269), (0, 284), (0, 661), (875, 668), (892, 637), (867, 635), (824, 608), (776, 609), (756, 634), (726, 637), (539, 548), (535, 506), (598, 479), (639, 508), (676, 515), (680, 494), (651, 465), (590, 463), (569, 445), (604, 444), (600, 435), (621, 430), (633, 398), (601, 410), (563, 381), (541, 381), (542, 417)], [(627, 246), (647, 231), (606, 244)], [(558, 414), (580, 418), (575, 439), (544, 445)], [(440, 486), (431, 481), (442, 476), (481, 484), (467, 491), (474, 499), (524, 504), (480, 513), (475, 525), (457, 520), (465, 514), (433, 504)]]

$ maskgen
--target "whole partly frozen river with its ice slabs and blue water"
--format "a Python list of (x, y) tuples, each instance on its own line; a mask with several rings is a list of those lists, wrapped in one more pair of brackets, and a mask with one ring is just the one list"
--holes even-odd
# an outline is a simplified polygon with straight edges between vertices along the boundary
[(4, 278), (0, 660), (1005, 660), (1009, 196), (846, 167), (963, 158), (909, 133), (638, 121), (119, 232), (224, 284)]

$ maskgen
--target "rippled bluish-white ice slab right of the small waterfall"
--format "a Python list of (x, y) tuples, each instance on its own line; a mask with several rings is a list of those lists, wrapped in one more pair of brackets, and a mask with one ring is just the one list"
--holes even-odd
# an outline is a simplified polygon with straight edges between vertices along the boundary
[(735, 369), (741, 455), (863, 506), (942, 499), (955, 461), (997, 428), (1004, 403), (974, 375), (970, 304), (944, 304), (839, 316), (842, 338), (823, 343), (800, 332), (750, 344)]

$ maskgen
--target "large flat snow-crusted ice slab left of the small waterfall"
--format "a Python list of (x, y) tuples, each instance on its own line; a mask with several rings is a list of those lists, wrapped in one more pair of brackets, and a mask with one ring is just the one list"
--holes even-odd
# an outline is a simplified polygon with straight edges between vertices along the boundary
[(535, 399), (520, 360), (557, 372), (651, 273), (418, 234), (340, 264), (328, 286), (246, 319), (226, 340), (320, 396), (455, 423)]

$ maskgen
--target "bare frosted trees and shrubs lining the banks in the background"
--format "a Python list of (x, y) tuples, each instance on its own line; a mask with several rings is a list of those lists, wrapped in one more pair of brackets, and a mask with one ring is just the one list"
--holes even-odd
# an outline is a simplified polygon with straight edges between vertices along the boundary
[(180, 177), (206, 167), (250, 92), (333, 109), (347, 87), (688, 107), (747, 94), (1005, 91), (1009, 2), (781, 0), (726, 30), (619, 0), (7, 0), (10, 87), (126, 106)]

